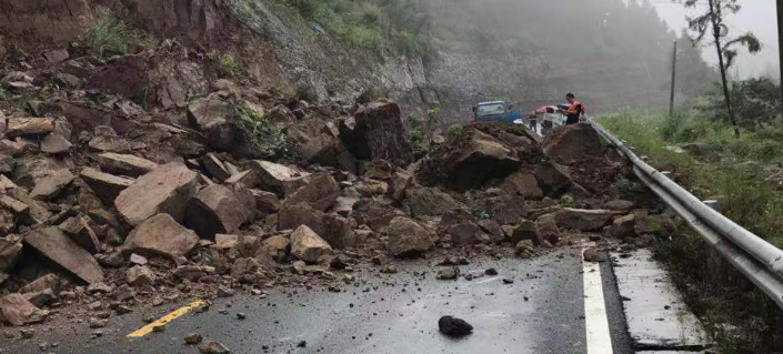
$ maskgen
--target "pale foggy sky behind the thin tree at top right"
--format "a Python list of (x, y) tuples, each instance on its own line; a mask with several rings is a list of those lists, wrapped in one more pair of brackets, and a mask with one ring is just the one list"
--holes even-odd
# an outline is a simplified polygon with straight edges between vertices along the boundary
[[(682, 4), (673, 3), (671, 0), (650, 0), (657, 9), (659, 14), (669, 23), (676, 33), (680, 33), (683, 28), (687, 27), (685, 16), (697, 13), (703, 10), (701, 7), (697, 11), (686, 11)], [(706, 0), (704, 1), (706, 2)], [(777, 53), (777, 19), (776, 7), (773, 0), (740, 0), (742, 10), (730, 19), (731, 36), (736, 36), (745, 31), (752, 31), (764, 45), (763, 50), (754, 55), (747, 52), (741, 52), (734, 65), (731, 68), (731, 74), (735, 74), (739, 70), (740, 77), (759, 77), (769, 74), (773, 70), (773, 74), (779, 73), (779, 53)], [(703, 48), (702, 53), (704, 59), (710, 63), (716, 63), (717, 57), (714, 47)]]

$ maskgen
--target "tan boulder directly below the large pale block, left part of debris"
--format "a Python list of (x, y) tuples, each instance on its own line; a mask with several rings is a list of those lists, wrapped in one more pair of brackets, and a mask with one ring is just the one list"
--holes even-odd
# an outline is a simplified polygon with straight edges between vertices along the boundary
[(199, 236), (177, 223), (171, 215), (158, 214), (131, 231), (122, 251), (177, 259), (188, 254), (198, 242)]

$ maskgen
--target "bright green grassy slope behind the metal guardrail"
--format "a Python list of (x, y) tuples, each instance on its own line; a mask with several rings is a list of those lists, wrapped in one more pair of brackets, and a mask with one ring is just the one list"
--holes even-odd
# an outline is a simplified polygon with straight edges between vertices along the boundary
[[(721, 123), (682, 115), (624, 112), (601, 118), (601, 123), (638, 153), (646, 155), (659, 170), (670, 170), (677, 182), (691, 188), (702, 199), (717, 199), (726, 218), (783, 246), (783, 192), (764, 180), (764, 164), (781, 161), (780, 140), (759, 133), (732, 138)], [(677, 124), (680, 122), (680, 124)], [(703, 142), (722, 150), (715, 163), (704, 163), (676, 148), (687, 142)]]

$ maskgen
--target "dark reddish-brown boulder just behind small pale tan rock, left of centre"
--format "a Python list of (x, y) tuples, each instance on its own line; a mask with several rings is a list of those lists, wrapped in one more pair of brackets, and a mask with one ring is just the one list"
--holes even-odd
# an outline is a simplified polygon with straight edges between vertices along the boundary
[(301, 225), (313, 230), (334, 249), (355, 245), (357, 240), (349, 219), (327, 214), (304, 203), (284, 206), (278, 213), (278, 230), (294, 230)]

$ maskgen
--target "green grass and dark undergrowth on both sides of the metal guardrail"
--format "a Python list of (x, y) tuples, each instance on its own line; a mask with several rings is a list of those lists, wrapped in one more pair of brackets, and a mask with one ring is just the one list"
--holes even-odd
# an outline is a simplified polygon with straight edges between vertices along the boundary
[[(719, 200), (719, 210), (770, 243), (783, 246), (783, 192), (764, 180), (763, 165), (781, 161), (781, 139), (749, 131), (739, 140), (722, 121), (685, 112), (675, 118), (622, 112), (600, 122), (660, 170), (699, 198)], [(721, 150), (717, 162), (697, 161), (675, 148), (692, 142)], [(775, 146), (775, 148), (773, 148)], [(655, 239), (655, 254), (691, 310), (716, 338), (720, 353), (769, 353), (783, 348), (783, 312), (757, 287), (714, 253), (701, 236), (682, 232)]]

